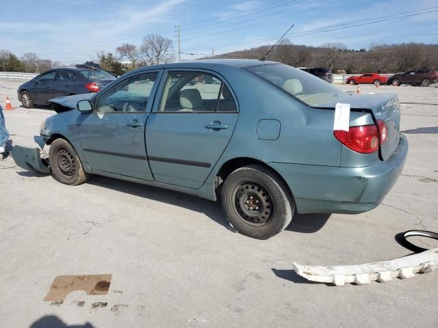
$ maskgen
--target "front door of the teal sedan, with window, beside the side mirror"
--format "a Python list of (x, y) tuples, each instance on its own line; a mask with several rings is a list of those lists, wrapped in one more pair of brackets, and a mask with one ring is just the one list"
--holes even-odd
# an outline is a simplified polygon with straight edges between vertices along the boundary
[(144, 126), (161, 74), (126, 77), (96, 98), (92, 113), (80, 116), (81, 147), (93, 171), (153, 180)]

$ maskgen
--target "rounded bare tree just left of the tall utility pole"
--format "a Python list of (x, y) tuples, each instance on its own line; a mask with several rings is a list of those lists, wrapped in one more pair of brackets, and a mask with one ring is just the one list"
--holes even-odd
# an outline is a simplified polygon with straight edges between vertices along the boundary
[(140, 46), (142, 64), (156, 65), (170, 63), (175, 60), (175, 54), (172, 51), (172, 40), (164, 38), (159, 34), (149, 34), (143, 39), (142, 46)]

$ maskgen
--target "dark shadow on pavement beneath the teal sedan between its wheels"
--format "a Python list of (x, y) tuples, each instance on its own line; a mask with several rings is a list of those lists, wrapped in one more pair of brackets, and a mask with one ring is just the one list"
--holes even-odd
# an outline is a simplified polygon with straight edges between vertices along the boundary
[(180, 206), (198, 213), (204, 213), (216, 223), (220, 224), (224, 228), (227, 228), (227, 230), (233, 231), (229, 226), (224, 213), (222, 212), (219, 202), (212, 202), (210, 200), (204, 200), (203, 198), (186, 195), (177, 191), (170, 191), (135, 182), (106, 178), (104, 176), (92, 176), (87, 183), (120, 191), (122, 193), (129, 193), (130, 195), (135, 195), (138, 197), (148, 198), (149, 200), (155, 200), (157, 202)]

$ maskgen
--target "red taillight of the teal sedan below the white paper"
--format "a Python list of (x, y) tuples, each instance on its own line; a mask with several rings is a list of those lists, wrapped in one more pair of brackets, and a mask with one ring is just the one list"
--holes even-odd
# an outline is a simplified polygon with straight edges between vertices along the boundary
[(378, 150), (378, 145), (385, 143), (388, 139), (388, 131), (385, 122), (378, 120), (380, 129), (380, 142), (377, 128), (374, 124), (363, 126), (350, 126), (349, 131), (336, 130), (333, 135), (344, 146), (360, 152), (361, 154), (370, 154)]

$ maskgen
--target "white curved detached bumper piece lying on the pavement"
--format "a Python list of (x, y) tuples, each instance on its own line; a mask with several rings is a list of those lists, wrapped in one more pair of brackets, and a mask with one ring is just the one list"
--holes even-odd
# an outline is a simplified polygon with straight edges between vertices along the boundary
[(322, 267), (300, 265), (294, 262), (298, 275), (312, 282), (322, 282), (341, 286), (347, 283), (359, 285), (371, 282), (389, 282), (394, 278), (411, 278), (415, 273), (428, 273), (438, 269), (438, 248), (422, 253), (383, 262), (358, 265)]

